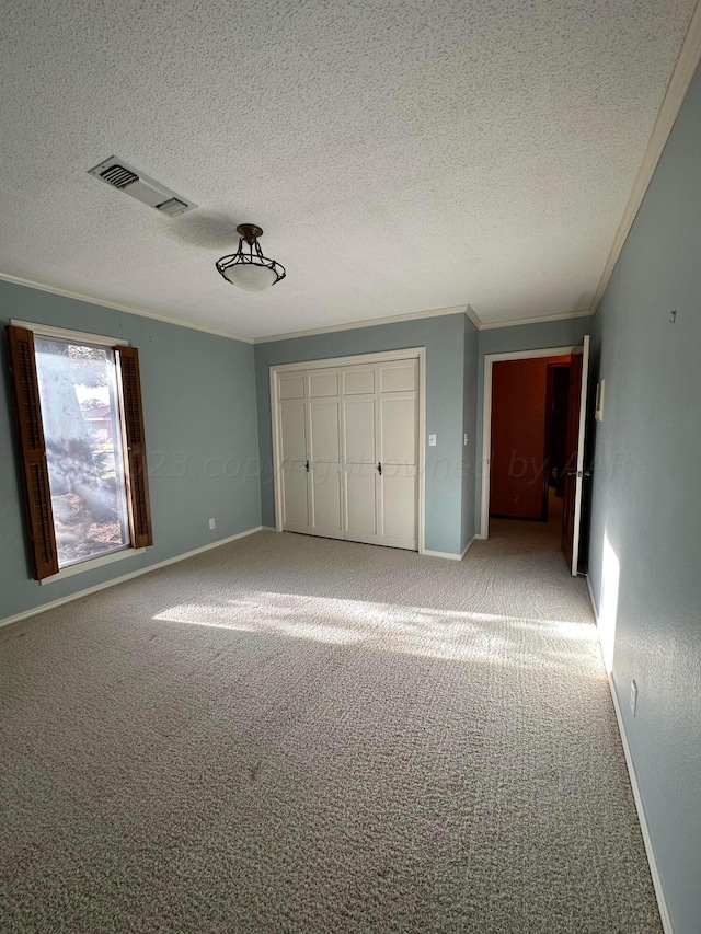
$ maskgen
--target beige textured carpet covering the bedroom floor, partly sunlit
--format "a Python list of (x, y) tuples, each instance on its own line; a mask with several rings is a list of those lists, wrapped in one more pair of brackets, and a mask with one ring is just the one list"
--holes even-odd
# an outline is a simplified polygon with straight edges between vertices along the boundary
[(659, 932), (583, 580), (258, 533), (0, 631), (3, 932)]

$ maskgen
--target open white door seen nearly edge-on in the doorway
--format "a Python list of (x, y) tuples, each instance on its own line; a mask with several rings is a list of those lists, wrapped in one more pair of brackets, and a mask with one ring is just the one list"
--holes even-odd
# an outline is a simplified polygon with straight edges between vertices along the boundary
[(562, 517), (562, 551), (573, 577), (579, 563), (582, 492), (584, 485), (584, 441), (586, 433), (589, 336), (572, 351), (570, 406), (567, 412), (567, 461)]

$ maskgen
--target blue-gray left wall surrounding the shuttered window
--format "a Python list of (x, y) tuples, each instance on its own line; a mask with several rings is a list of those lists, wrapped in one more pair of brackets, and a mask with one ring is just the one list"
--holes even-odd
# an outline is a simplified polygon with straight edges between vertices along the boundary
[[(145, 554), (45, 586), (32, 579), (4, 347), (10, 319), (138, 348), (153, 520)], [(0, 620), (261, 524), (251, 344), (3, 281), (0, 325)]]

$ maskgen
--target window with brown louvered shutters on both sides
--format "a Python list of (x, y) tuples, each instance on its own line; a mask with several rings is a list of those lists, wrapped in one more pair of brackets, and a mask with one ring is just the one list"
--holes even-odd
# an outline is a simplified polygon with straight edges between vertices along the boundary
[(8, 327), (34, 577), (152, 544), (138, 353)]

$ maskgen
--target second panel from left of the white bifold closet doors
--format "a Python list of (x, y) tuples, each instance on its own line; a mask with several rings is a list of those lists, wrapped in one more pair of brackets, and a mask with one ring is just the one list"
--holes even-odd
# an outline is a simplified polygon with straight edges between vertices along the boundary
[(341, 501), (341, 373), (307, 373), (310, 531), (343, 538)]

